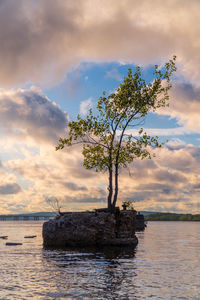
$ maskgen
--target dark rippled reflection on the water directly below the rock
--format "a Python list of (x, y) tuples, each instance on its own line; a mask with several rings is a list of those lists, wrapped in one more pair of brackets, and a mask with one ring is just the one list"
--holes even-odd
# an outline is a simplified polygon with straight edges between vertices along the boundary
[[(130, 278), (134, 275), (133, 249), (44, 250), (43, 259), (52, 270), (60, 268), (59, 284), (68, 291), (63, 297), (73, 294), (91, 299), (117, 299), (120, 293), (128, 297), (128, 290), (121, 291), (128, 283), (125, 283), (128, 272)], [(125, 263), (129, 268), (124, 268)], [(51, 292), (50, 296), (55, 297), (56, 293)]]

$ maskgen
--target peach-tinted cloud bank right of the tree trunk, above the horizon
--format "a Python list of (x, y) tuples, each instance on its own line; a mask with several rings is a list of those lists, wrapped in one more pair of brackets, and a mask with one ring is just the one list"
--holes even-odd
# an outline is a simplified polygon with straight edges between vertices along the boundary
[(198, 213), (200, 147), (163, 147), (155, 152), (153, 163), (135, 160), (131, 176), (127, 171), (121, 174), (120, 199), (134, 201), (137, 210)]

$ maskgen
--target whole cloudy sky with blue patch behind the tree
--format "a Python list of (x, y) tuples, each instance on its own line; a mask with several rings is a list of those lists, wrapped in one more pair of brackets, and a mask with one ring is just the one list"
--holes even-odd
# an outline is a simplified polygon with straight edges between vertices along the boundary
[(148, 82), (173, 55), (170, 105), (143, 125), (167, 142), (121, 170), (118, 205), (199, 213), (199, 18), (199, 0), (0, 0), (0, 214), (106, 207), (107, 174), (58, 139), (128, 68)]

